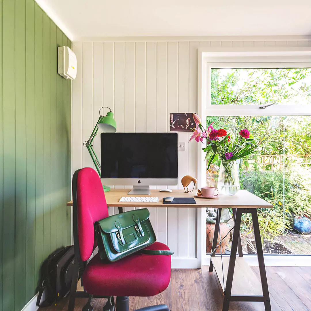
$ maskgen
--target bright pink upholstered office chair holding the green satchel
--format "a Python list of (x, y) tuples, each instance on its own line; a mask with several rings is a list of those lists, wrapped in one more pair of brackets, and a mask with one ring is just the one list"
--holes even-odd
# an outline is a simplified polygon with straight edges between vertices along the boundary
[[(171, 276), (171, 256), (135, 253), (117, 262), (101, 261), (99, 254), (91, 260), (96, 247), (94, 222), (108, 217), (108, 207), (99, 175), (91, 168), (78, 169), (72, 178), (74, 278), (68, 311), (73, 311), (75, 298), (89, 298), (83, 311), (92, 311), (92, 298), (108, 298), (103, 311), (128, 311), (128, 296), (154, 296), (167, 288)], [(169, 250), (156, 242), (148, 247)], [(77, 291), (81, 278), (84, 291)]]

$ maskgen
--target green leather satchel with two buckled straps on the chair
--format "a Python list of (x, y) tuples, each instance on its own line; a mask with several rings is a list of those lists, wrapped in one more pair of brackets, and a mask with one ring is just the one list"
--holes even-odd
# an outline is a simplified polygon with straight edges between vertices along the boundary
[[(96, 221), (98, 251), (102, 260), (117, 261), (156, 242), (146, 208), (128, 211)], [(165, 250), (144, 250), (150, 255), (172, 255)]]

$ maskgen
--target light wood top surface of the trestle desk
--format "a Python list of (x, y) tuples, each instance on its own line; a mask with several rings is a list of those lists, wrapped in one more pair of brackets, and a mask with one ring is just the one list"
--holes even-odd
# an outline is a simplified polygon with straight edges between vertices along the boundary
[[(146, 195), (128, 195), (130, 189), (112, 189), (105, 192), (106, 202), (108, 206), (114, 207), (233, 207), (233, 208), (272, 208), (272, 204), (257, 197), (247, 190), (239, 190), (233, 196), (220, 195), (214, 199), (203, 199), (194, 197), (193, 193), (185, 193), (183, 190), (173, 190), (173, 192), (159, 192), (159, 190), (151, 190), (150, 197), (158, 197), (158, 202), (119, 202), (121, 197), (146, 197)], [(164, 197), (194, 197), (197, 204), (163, 204)], [(67, 203), (72, 206), (72, 201)]]

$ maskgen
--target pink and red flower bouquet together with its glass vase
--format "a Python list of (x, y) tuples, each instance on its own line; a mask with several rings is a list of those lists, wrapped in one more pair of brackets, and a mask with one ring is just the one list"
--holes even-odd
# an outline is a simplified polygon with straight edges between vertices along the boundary
[(195, 139), (196, 142), (203, 142), (206, 139), (207, 146), (202, 149), (206, 152), (207, 169), (216, 156), (221, 160), (218, 177), (219, 192), (225, 195), (235, 194), (240, 188), (239, 172), (235, 160), (253, 153), (257, 145), (247, 129), (242, 129), (239, 135), (233, 136), (223, 128), (218, 130), (213, 128), (214, 122), (205, 130), (197, 114), (193, 114), (193, 120), (196, 127), (192, 129), (193, 135), (190, 141)]

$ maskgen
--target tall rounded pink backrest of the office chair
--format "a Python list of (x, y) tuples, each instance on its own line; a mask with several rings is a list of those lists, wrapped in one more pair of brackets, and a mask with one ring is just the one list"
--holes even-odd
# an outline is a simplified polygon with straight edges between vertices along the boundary
[(72, 177), (73, 234), (76, 256), (82, 261), (91, 257), (95, 247), (94, 223), (108, 217), (103, 186), (97, 172), (86, 167)]

